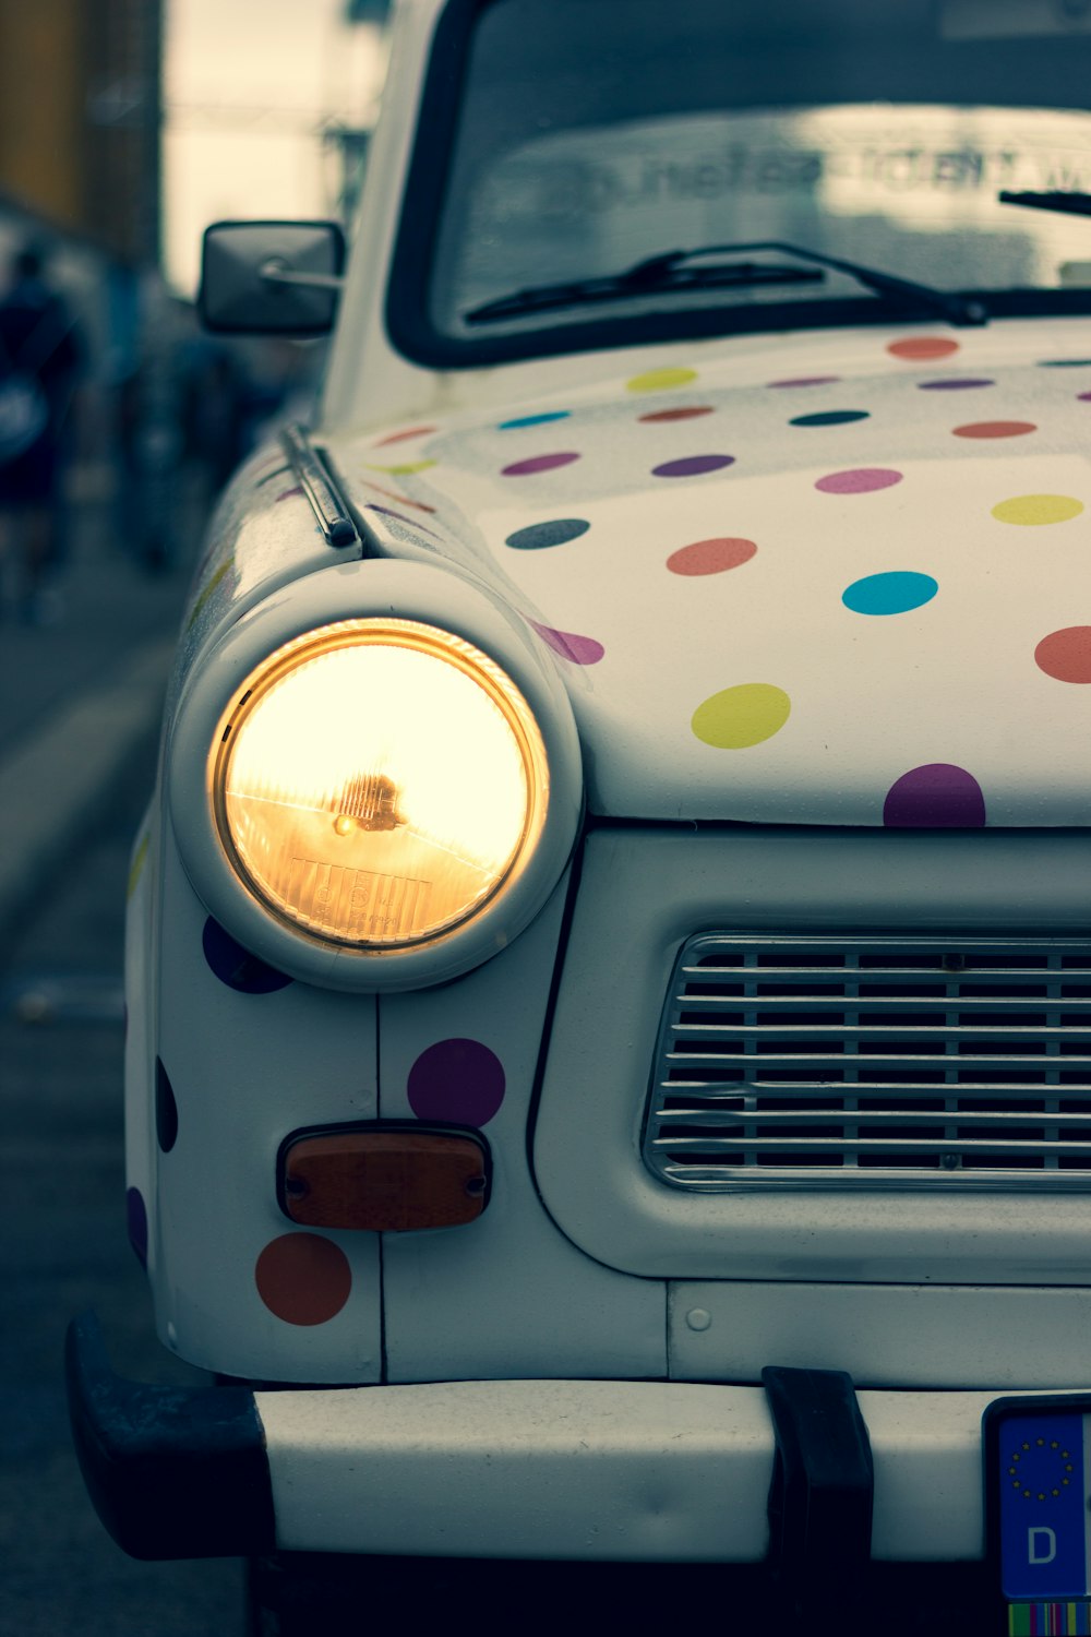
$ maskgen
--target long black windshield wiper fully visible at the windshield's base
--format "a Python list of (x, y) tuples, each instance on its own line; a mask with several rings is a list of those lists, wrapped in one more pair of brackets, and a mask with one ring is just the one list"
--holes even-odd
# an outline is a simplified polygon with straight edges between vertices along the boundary
[(859, 262), (823, 255), (819, 250), (805, 250), (779, 239), (757, 241), (756, 244), (708, 244), (697, 250), (664, 250), (610, 278), (584, 278), (572, 283), (517, 290), (510, 296), (501, 296), (497, 301), (474, 308), (465, 318), (468, 324), (489, 324), (496, 319), (523, 318), (551, 308), (581, 306), (586, 301), (617, 301), (618, 298), (676, 295), (695, 290), (743, 290), (770, 283), (810, 283), (823, 277), (810, 268), (767, 267), (761, 262), (730, 262), (720, 267), (692, 265), (705, 255), (751, 255), (759, 250), (775, 250), (779, 255), (813, 262), (819, 268), (828, 267), (833, 272), (847, 273), (865, 290), (929, 308), (929, 311), (945, 318), (949, 324), (988, 322), (988, 313), (981, 303), (957, 291), (934, 290), (931, 285), (919, 285), (911, 278), (898, 278), (896, 273), (880, 273)]

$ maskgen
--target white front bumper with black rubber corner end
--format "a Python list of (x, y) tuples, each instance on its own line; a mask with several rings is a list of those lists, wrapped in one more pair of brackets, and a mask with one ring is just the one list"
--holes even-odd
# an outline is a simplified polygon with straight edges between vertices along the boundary
[[(774, 1431), (761, 1387), (180, 1391), (114, 1375), (93, 1318), (69, 1329), (67, 1377), (87, 1486), (134, 1557), (757, 1563), (775, 1545), (767, 1501), (783, 1426), (779, 1416)], [(870, 1434), (873, 1560), (983, 1555), (981, 1413), (993, 1396), (854, 1396), (849, 1385)]]

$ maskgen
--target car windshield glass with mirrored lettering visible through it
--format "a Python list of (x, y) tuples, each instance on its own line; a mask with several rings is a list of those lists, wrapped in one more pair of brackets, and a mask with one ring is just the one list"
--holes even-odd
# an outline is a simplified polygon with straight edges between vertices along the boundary
[[(998, 200), (1091, 190), (1091, 0), (453, 10), (468, 44), (447, 121), (430, 129), (427, 110), (422, 121), (437, 188), (417, 229), (415, 324), (451, 362), (590, 345), (597, 332), (654, 339), (667, 313), (672, 334), (906, 313), (829, 268), (818, 282), (581, 291), (703, 246), (730, 262), (731, 244), (777, 241), (993, 293), (993, 311), (1091, 308), (1091, 223)], [(746, 260), (798, 272), (774, 250)], [(553, 285), (571, 291), (527, 311), (505, 300)], [(1021, 306), (1004, 301), (1012, 293)]]

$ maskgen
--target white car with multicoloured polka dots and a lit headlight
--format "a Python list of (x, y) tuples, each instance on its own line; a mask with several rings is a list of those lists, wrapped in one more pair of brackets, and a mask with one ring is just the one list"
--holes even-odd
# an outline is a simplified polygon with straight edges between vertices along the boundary
[(1089, 69), (1062, 0), (406, 0), (343, 280), (209, 229), (213, 327), (337, 309), (132, 869), (221, 1385), (82, 1319), (70, 1391), (263, 1630), (312, 1554), (1088, 1630)]

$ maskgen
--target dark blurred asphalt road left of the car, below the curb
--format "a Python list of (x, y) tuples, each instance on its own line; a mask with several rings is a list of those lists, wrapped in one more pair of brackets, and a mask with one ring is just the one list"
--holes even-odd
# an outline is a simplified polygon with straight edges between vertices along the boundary
[(49, 877), (0, 971), (0, 1632), (240, 1637), (237, 1562), (136, 1563), (103, 1531), (69, 1442), (62, 1346), (95, 1308), (114, 1365), (200, 1380), (155, 1341), (124, 1226), (121, 936), (154, 743)]

